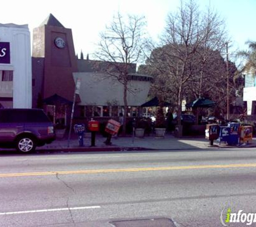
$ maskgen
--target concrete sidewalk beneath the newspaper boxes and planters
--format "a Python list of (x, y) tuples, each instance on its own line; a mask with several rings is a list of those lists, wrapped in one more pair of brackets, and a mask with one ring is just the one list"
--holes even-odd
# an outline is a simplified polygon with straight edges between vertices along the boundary
[(103, 143), (105, 137), (96, 136), (95, 146), (91, 147), (91, 138), (84, 139), (84, 146), (79, 146), (78, 137), (73, 135), (68, 147), (68, 140), (55, 140), (52, 144), (38, 147), (37, 150), (59, 150), (59, 151), (132, 151), (132, 150), (198, 150), (212, 148), (233, 148), (233, 147), (256, 147), (256, 138), (252, 143), (241, 146), (227, 146), (225, 143), (219, 144), (215, 141), (214, 146), (210, 146), (209, 141), (204, 137), (183, 137), (176, 138), (170, 134), (164, 138), (147, 136), (144, 138), (114, 137), (112, 145)]

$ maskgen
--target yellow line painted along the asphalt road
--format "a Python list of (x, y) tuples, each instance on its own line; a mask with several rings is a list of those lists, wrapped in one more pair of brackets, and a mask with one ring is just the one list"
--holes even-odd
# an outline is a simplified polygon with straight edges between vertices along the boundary
[(167, 171), (177, 169), (216, 169), (216, 168), (238, 168), (256, 167), (256, 164), (231, 164), (231, 165), (202, 165), (202, 166), (168, 166), (168, 167), (149, 167), (149, 168), (123, 168), (123, 169), (86, 169), (81, 171), (50, 171), (50, 172), (31, 172), (31, 173), (2, 173), (0, 178), (10, 178), (13, 176), (46, 176), (62, 174), (96, 174), (96, 173), (119, 173), (119, 172), (140, 172), (140, 171)]

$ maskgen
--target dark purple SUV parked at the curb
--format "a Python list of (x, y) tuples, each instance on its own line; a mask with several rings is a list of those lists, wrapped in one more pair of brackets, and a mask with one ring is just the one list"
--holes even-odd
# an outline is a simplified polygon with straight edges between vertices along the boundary
[(0, 147), (32, 152), (55, 139), (53, 124), (40, 109), (0, 109)]

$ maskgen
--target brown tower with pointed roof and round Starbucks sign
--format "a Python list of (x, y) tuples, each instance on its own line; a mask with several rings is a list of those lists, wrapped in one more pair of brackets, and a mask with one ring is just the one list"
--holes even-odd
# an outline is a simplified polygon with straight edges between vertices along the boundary
[(66, 29), (52, 14), (33, 30), (33, 98), (58, 94), (72, 101), (73, 72), (77, 72), (72, 30)]

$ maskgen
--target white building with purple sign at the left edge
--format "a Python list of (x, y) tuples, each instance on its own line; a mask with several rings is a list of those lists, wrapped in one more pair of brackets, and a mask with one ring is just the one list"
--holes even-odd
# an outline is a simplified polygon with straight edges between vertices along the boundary
[(0, 104), (32, 107), (30, 31), (27, 25), (0, 24)]

